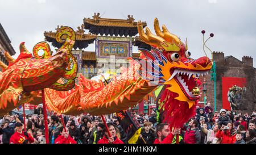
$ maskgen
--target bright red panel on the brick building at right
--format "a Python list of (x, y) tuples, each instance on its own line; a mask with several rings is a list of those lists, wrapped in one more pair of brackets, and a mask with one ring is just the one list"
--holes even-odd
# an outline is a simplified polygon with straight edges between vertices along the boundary
[(228, 101), (228, 91), (232, 86), (245, 87), (246, 78), (236, 77), (222, 77), (222, 108), (231, 110), (230, 103)]

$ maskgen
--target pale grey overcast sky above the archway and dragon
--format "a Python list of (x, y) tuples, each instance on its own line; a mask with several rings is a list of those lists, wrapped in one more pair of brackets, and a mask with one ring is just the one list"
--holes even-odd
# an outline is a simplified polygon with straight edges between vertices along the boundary
[[(77, 30), (83, 19), (92, 18), (94, 12), (100, 12), (102, 18), (126, 19), (127, 15), (133, 15), (135, 21), (146, 21), (152, 32), (157, 17), (160, 25), (166, 24), (181, 40), (187, 37), (193, 58), (204, 56), (201, 30), (205, 30), (206, 36), (214, 33), (207, 44), (212, 51), (223, 51), (225, 56), (232, 55), (239, 60), (251, 56), (255, 67), (255, 7), (254, 0), (0, 0), (0, 22), (17, 57), (22, 41), (32, 51), (36, 43), (44, 41), (44, 31), (55, 31), (57, 25)], [(94, 51), (94, 45), (85, 51)]]

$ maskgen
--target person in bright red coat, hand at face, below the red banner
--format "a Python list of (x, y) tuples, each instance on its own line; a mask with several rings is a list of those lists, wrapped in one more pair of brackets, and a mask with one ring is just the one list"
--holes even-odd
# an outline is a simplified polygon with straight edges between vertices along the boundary
[(236, 143), (236, 130), (233, 123), (228, 125), (222, 125), (220, 130), (215, 135), (218, 139), (221, 139), (221, 144), (234, 144)]

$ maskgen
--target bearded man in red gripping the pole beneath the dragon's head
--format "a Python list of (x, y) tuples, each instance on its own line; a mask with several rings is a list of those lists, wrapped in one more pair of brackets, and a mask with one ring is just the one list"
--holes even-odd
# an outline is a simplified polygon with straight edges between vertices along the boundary
[(177, 134), (180, 134), (180, 128), (175, 128), (171, 132), (170, 124), (160, 123), (156, 127), (156, 135), (158, 138), (155, 139), (154, 144), (172, 144), (172, 140)]

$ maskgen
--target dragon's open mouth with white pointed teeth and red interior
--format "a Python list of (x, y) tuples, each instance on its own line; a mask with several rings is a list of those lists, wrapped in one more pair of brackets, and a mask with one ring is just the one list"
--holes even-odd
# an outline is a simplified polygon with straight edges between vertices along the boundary
[(193, 87), (198, 87), (197, 79), (199, 76), (207, 75), (208, 71), (175, 69), (169, 80), (174, 78), (186, 97), (190, 100), (196, 100), (200, 98), (200, 95), (195, 96), (192, 94)]

